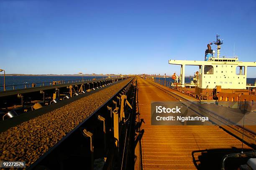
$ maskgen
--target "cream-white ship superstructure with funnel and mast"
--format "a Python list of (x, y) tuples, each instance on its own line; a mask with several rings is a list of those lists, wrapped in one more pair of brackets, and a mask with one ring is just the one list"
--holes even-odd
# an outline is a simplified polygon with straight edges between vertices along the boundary
[[(222, 89), (246, 89), (255, 87), (246, 85), (247, 68), (256, 67), (256, 62), (238, 61), (237, 56), (220, 57), (220, 45), (223, 44), (219, 36), (216, 36), (217, 41), (213, 42), (217, 45), (217, 57), (215, 51), (211, 49), (210, 44), (207, 44), (205, 50), (205, 61), (187, 61), (187, 60), (169, 60), (169, 64), (181, 66), (180, 84), (181, 86), (197, 86), (202, 89), (214, 89), (216, 86), (221, 86)], [(185, 67), (199, 66), (199, 71), (196, 72), (191, 84), (185, 84)]]

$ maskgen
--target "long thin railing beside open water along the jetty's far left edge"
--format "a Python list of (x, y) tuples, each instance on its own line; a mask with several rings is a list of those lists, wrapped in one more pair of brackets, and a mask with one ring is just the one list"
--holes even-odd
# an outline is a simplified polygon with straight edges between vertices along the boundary
[[(93, 80), (105, 80), (105, 79), (112, 79), (116, 77), (105, 77), (105, 78), (93, 78), (93, 79), (77, 79), (77, 80), (59, 80), (59, 81), (51, 81), (51, 82), (40, 82), (40, 83), (25, 83), (25, 84), (13, 84), (13, 85), (6, 85), (5, 88), (7, 90), (15, 90), (15, 89), (26, 89), (31, 87), (38, 87), (38, 86), (54, 86), (58, 84), (69, 84), (69, 83), (79, 83), (79, 82), (87, 82)], [(3, 91), (4, 86), (0, 86), (0, 91)]]

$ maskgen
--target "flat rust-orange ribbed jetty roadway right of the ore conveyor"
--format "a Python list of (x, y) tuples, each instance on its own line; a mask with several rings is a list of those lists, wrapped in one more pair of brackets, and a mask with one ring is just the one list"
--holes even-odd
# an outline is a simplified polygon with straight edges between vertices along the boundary
[(223, 155), (241, 152), (241, 141), (218, 126), (151, 126), (151, 101), (175, 100), (138, 78), (143, 170), (215, 169)]

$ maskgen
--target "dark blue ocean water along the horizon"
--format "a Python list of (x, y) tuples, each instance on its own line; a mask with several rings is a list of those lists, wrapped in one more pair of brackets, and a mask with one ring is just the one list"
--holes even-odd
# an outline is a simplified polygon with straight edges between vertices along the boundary
[[(102, 76), (83, 76), (83, 79), (101, 79)], [(107, 76), (103, 76), (106, 78)], [(158, 80), (159, 78), (156, 77)], [(256, 78), (247, 78), (247, 84), (254, 84)], [(42, 82), (47, 82), (44, 86), (50, 85), (52, 81), (82, 81), (82, 76), (5, 76), (5, 85), (7, 90), (12, 90), (13, 85), (15, 85), (15, 89), (23, 89), (25, 87), (24, 84), (27, 84), (27, 87), (31, 86), (31, 83), (36, 83), (36, 86), (42, 86)], [(160, 78), (160, 80), (164, 80), (164, 78)], [(189, 83), (192, 80), (192, 77), (185, 77), (185, 82)], [(166, 78), (166, 81), (172, 81), (171, 78)], [(4, 77), (0, 76), (0, 91), (3, 91), (3, 82)]]

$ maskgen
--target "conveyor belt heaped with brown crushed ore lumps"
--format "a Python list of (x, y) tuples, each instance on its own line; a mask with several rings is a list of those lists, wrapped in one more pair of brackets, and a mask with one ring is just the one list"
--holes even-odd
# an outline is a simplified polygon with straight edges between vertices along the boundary
[(0, 160), (26, 161), (26, 167), (30, 166), (132, 79), (121, 81), (0, 133)]

